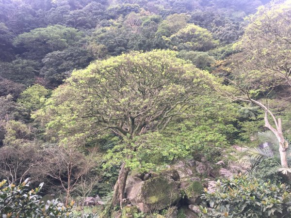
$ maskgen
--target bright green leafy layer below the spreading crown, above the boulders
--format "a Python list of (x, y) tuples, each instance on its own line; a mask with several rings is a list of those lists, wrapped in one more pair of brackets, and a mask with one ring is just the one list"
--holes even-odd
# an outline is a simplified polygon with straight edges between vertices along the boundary
[(215, 96), (210, 96), (209, 101), (200, 99), (201, 106), (192, 109), (195, 118), (182, 119), (182, 122), (173, 123), (163, 131), (151, 132), (136, 139), (132, 145), (137, 149), (135, 154), (129, 150), (120, 152), (125, 145), (109, 150), (107, 157), (111, 161), (108, 165), (117, 164), (128, 154), (133, 158), (126, 160), (127, 165), (140, 171), (191, 157), (199, 159), (204, 156), (211, 163), (221, 160), (232, 135), (235, 136), (236, 129), (232, 122), (238, 114), (231, 105), (213, 105), (214, 99)]

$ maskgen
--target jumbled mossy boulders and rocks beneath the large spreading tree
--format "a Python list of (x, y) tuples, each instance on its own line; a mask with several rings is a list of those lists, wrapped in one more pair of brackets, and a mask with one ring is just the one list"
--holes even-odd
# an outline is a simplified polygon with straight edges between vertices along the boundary
[[(233, 148), (237, 151), (233, 155), (243, 151), (239, 146)], [(230, 178), (246, 170), (246, 166), (235, 161), (219, 161), (211, 165), (202, 158), (200, 161), (178, 161), (160, 172), (132, 171), (127, 179), (122, 218), (131, 218), (138, 212), (154, 214), (161, 210), (166, 213), (158, 218), (177, 218), (181, 211), (186, 218), (195, 218), (200, 213), (198, 204), (204, 188), (214, 191), (217, 179)], [(85, 204), (100, 205), (103, 202), (88, 197)]]

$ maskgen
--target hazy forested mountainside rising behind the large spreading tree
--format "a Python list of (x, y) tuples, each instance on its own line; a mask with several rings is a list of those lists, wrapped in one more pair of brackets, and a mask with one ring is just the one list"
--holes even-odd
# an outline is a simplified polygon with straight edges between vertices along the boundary
[(263, 3), (2, 0), (0, 77), (26, 86), (40, 77), (56, 86), (73, 69), (107, 55), (167, 48), (206, 52), (238, 40), (243, 18)]

